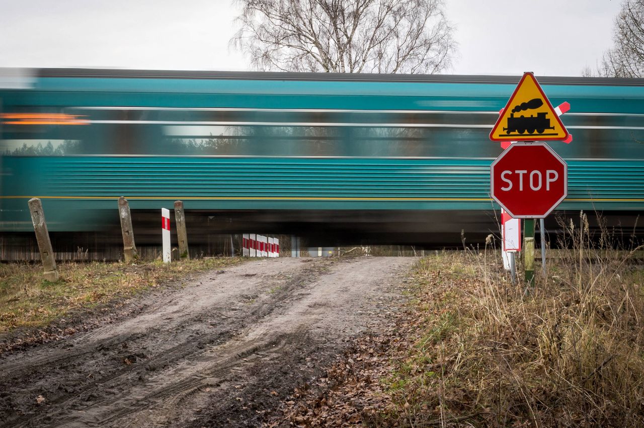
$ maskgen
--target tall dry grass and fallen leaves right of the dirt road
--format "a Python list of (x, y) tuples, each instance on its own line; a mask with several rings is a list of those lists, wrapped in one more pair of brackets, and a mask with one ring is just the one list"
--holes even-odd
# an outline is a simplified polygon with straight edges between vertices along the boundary
[(492, 247), (421, 260), (381, 424), (644, 425), (644, 268), (566, 227), (578, 245), (527, 294)]

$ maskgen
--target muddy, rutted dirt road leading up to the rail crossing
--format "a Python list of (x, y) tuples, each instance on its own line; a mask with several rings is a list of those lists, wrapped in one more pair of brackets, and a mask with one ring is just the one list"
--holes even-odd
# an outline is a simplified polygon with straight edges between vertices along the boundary
[(114, 323), (0, 357), (0, 425), (260, 425), (343, 341), (386, 322), (414, 261), (275, 258), (196, 275)]

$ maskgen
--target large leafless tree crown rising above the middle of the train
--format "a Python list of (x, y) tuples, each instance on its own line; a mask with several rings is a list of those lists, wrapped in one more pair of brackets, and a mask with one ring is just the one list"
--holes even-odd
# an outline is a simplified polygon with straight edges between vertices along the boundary
[(262, 70), (439, 73), (455, 42), (442, 0), (237, 0), (231, 42)]

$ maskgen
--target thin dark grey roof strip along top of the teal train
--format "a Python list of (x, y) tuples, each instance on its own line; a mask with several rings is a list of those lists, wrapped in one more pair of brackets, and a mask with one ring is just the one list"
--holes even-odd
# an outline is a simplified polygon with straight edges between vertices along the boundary
[[(37, 77), (78, 78), (176, 78), (220, 80), (294, 80), (319, 82), (408, 82), (408, 83), (472, 83), (516, 84), (520, 76), (488, 75), (399, 75), (378, 73), (294, 73), (261, 71), (180, 71), (98, 68), (35, 69)], [(644, 85), (644, 78), (538, 76), (547, 85)]]

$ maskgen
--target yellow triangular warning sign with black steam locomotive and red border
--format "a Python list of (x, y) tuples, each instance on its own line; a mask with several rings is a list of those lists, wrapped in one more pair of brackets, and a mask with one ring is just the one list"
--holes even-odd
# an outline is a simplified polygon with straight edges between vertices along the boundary
[(568, 131), (532, 73), (524, 73), (489, 133), (492, 141), (549, 141), (567, 137)]

